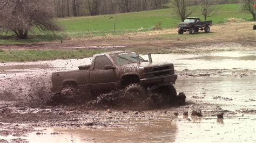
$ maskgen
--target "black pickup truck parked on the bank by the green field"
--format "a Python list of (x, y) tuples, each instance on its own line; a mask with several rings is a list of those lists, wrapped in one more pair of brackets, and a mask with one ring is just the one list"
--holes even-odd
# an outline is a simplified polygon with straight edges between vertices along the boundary
[(183, 34), (184, 32), (189, 31), (190, 34), (194, 34), (199, 30), (204, 30), (205, 33), (209, 33), (211, 25), (212, 20), (201, 22), (198, 17), (188, 17), (183, 23), (178, 24), (178, 33)]

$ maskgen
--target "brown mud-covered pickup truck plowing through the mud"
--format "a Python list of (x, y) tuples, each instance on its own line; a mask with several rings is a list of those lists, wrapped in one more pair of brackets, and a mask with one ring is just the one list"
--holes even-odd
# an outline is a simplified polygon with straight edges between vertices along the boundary
[(52, 74), (52, 91), (73, 86), (89, 91), (125, 89), (139, 96), (154, 90), (176, 96), (173, 84), (177, 80), (172, 63), (152, 62), (134, 52), (119, 51), (96, 54), (91, 65), (80, 66), (78, 70)]

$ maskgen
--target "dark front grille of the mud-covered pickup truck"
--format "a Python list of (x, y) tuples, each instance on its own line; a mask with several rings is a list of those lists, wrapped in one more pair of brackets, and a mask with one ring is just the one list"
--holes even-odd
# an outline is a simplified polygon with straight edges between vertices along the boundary
[(144, 71), (145, 71), (145, 73), (144, 73), (145, 78), (174, 74), (173, 65), (163, 66), (163, 67), (145, 68)]

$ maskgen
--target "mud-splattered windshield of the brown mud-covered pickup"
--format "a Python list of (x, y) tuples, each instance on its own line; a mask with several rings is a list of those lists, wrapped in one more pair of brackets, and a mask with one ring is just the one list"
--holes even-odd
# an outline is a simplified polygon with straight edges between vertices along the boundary
[[(145, 62), (145, 60), (139, 56), (140, 62)], [(117, 55), (117, 65), (122, 66), (129, 63), (136, 63), (137, 55), (136, 53), (122, 53)]]

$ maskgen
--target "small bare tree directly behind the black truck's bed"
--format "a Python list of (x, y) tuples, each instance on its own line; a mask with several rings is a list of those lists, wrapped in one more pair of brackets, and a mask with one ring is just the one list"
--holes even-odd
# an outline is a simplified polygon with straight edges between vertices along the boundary
[(206, 20), (207, 17), (212, 17), (215, 14), (215, 11), (217, 11), (217, 8), (215, 5), (212, 4), (212, 1), (203, 0), (201, 2), (200, 11)]

